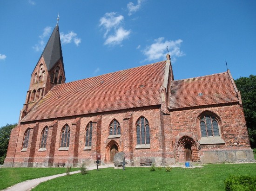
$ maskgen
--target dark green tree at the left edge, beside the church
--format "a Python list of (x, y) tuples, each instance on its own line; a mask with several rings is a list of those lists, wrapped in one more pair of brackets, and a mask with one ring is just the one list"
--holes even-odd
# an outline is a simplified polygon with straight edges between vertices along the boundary
[(0, 165), (4, 163), (6, 158), (8, 143), (10, 139), (11, 131), (14, 127), (17, 126), (16, 124), (6, 124), (6, 126), (2, 126), (0, 128)]

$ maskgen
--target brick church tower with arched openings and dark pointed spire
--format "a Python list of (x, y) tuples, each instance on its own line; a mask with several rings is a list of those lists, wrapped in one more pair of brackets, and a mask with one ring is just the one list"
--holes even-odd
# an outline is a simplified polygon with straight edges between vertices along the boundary
[(20, 112), (20, 120), (56, 84), (65, 83), (64, 63), (61, 51), (59, 16), (57, 25), (49, 38), (32, 74), (26, 102)]

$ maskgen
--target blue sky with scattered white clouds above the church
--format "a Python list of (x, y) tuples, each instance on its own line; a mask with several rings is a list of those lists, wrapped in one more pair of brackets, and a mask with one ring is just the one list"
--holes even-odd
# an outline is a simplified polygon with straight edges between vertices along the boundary
[(0, 127), (18, 122), (60, 13), (66, 82), (165, 60), (175, 79), (256, 75), (255, 0), (1, 0)]

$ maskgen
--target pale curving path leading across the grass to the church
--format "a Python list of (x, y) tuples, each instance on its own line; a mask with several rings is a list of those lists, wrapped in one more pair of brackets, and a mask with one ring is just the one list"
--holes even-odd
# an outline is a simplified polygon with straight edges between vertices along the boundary
[[(114, 165), (99, 166), (99, 169), (100, 168), (109, 168), (109, 167), (114, 167)], [(94, 170), (94, 169), (97, 169), (97, 166), (95, 166), (95, 167), (87, 167), (88, 171)], [(70, 172), (70, 174), (75, 174), (75, 173), (80, 173), (80, 170), (79, 171)], [(62, 177), (62, 176), (66, 176), (66, 173), (56, 174), (56, 175), (52, 175), (52, 176), (48, 176), (48, 177), (36, 178), (36, 179), (20, 182), (20, 183), (18, 183), (16, 185), (13, 185), (13, 186), (5, 189), (4, 191), (29, 191), (32, 188), (34, 188), (36, 185), (39, 185), (41, 182), (45, 182), (47, 180), (50, 180), (50, 179), (53, 179), (53, 178), (57, 178), (57, 177)]]

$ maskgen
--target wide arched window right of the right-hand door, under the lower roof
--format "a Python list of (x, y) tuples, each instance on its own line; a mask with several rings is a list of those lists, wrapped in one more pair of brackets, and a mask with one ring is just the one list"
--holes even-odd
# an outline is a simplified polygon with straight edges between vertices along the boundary
[(220, 136), (218, 121), (212, 115), (203, 115), (200, 118), (200, 129), (202, 137)]

